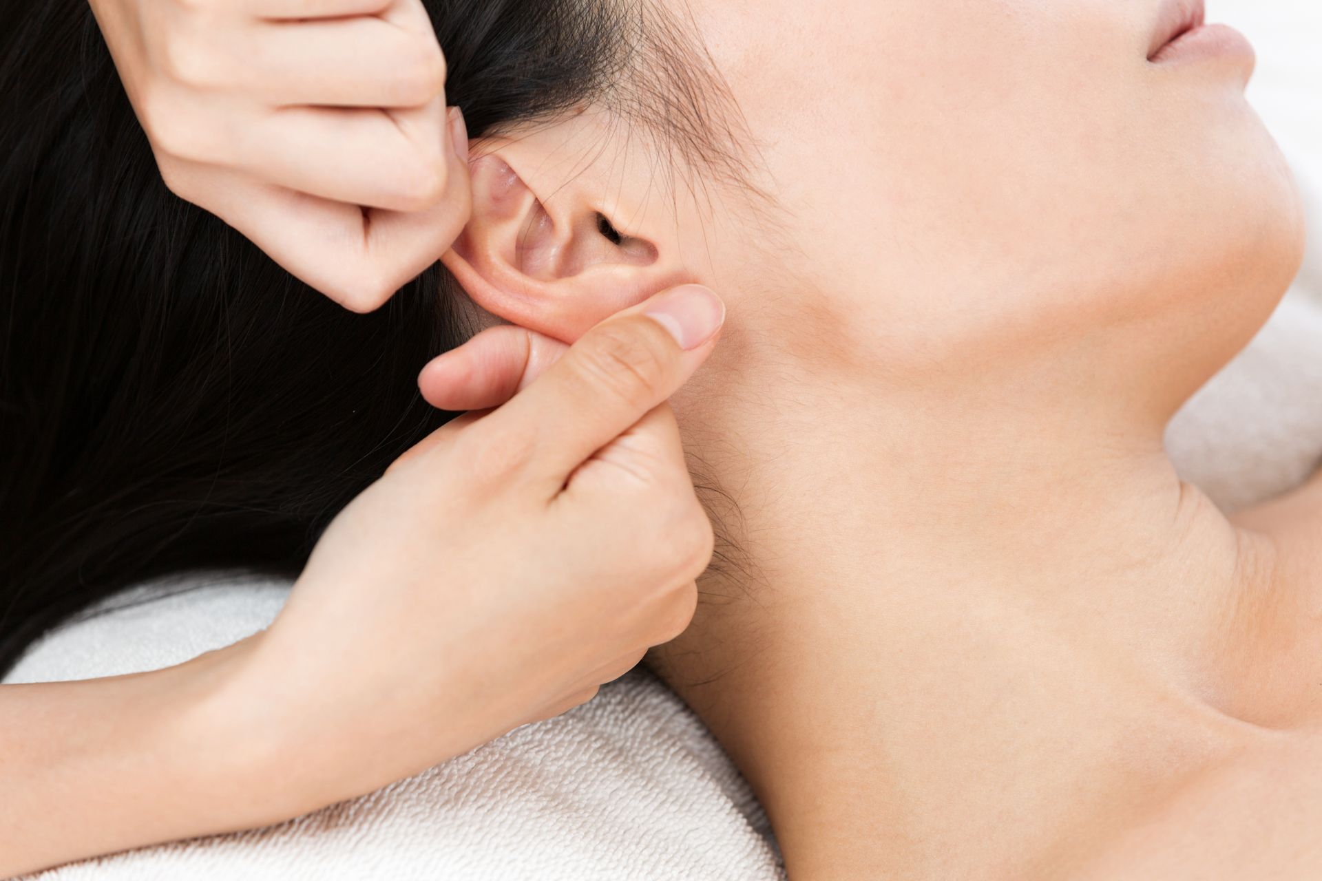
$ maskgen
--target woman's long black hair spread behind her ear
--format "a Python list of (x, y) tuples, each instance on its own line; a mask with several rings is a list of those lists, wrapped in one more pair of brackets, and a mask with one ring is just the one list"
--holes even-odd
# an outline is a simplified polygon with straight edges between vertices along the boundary
[[(426, 4), (473, 136), (598, 99), (641, 45), (617, 0)], [(685, 151), (689, 92), (661, 114)], [(0, 672), (156, 576), (295, 576), (451, 416), (415, 376), (465, 337), (460, 293), (435, 265), (354, 314), (295, 280), (165, 188), (86, 0), (3, 4)]]

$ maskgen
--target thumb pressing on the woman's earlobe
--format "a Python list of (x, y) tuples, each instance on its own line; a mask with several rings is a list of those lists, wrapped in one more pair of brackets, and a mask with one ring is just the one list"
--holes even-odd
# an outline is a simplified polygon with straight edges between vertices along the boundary
[(583, 334), (480, 431), (535, 432), (534, 466), (563, 477), (687, 382), (723, 324), (707, 288), (664, 291)]

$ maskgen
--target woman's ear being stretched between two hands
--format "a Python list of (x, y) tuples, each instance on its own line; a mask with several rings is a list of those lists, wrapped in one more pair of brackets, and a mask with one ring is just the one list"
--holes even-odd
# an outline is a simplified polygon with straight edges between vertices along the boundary
[[(609, 314), (685, 281), (660, 236), (621, 230), (591, 170), (564, 180), (510, 141), (471, 162), (473, 211), (442, 262), (473, 301), (506, 321), (572, 342)], [(631, 211), (639, 221), (639, 211)], [(636, 226), (639, 226), (636, 223)]]

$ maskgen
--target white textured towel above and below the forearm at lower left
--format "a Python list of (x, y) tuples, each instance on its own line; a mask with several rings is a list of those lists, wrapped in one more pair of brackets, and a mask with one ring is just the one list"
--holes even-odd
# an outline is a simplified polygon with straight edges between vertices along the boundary
[[(288, 585), (144, 588), (61, 630), (12, 680), (149, 670), (266, 626)], [(151, 596), (157, 598), (148, 598)], [(164, 594), (164, 596), (163, 596)], [(144, 601), (145, 600), (145, 601)], [(126, 799), (134, 798), (124, 793)], [(683, 703), (639, 668), (583, 707), (293, 822), (45, 872), (42, 881), (777, 878), (747, 785)]]

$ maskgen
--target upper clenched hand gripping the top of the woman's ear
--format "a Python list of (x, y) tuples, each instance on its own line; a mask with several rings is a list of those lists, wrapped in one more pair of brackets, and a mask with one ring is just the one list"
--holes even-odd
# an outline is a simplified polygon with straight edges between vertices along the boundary
[(453, 243), (468, 136), (422, 0), (90, 0), (165, 184), (356, 312)]

